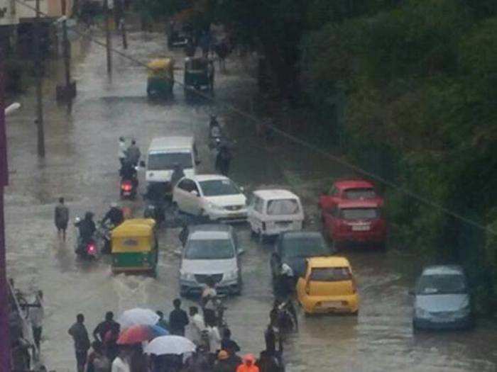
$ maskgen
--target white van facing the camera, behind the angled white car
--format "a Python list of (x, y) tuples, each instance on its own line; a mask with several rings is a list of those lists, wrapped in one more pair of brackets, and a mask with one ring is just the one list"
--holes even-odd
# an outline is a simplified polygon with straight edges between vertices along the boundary
[(197, 148), (193, 137), (157, 137), (148, 147), (146, 160), (147, 182), (171, 181), (174, 164), (180, 164), (185, 176), (194, 176), (198, 164)]

